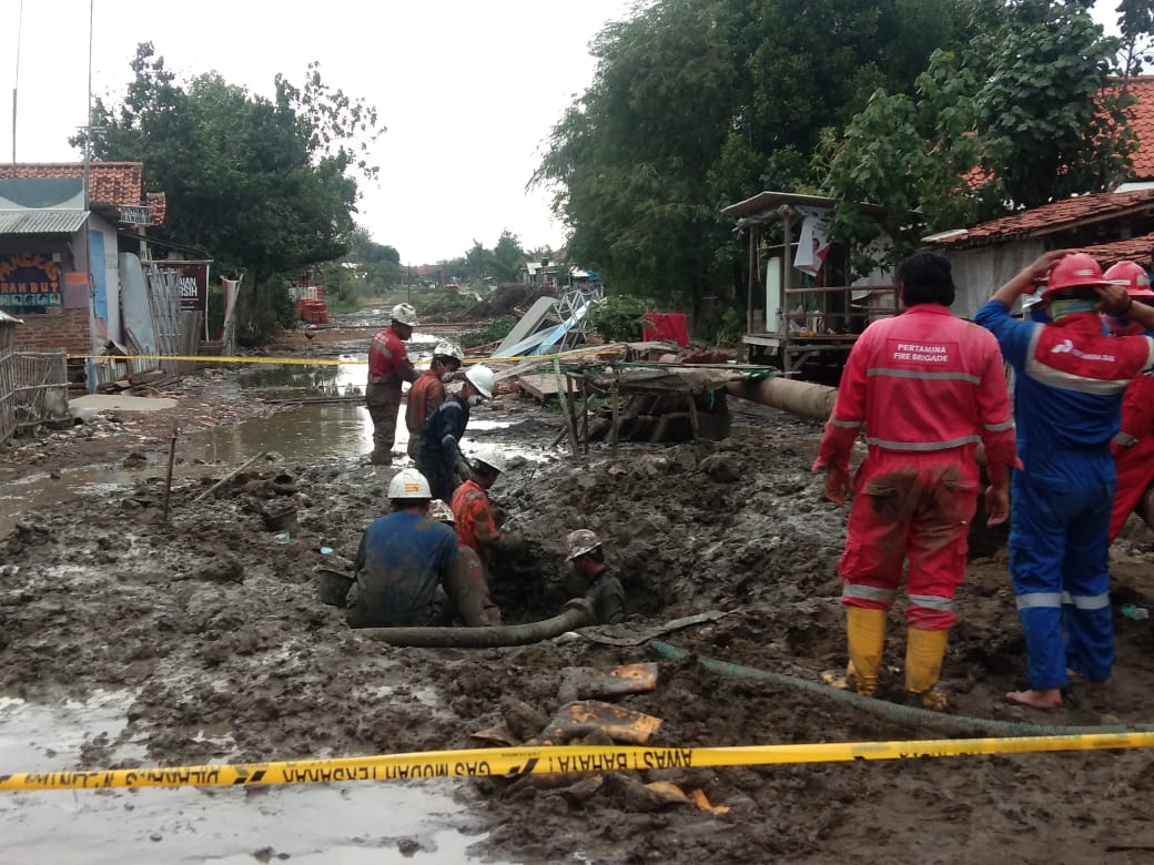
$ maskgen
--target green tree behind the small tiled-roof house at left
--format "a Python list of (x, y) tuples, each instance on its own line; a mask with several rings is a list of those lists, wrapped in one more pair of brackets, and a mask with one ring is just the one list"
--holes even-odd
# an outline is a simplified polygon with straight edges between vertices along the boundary
[[(216, 73), (180, 85), (151, 43), (137, 47), (119, 105), (97, 100), (96, 158), (144, 163), (168, 215), (159, 234), (207, 248), (225, 271), (245, 271), (254, 337), (276, 299), (260, 288), (277, 273), (344, 256), (351, 246), (357, 175), (383, 127), (374, 108), (332, 90), (310, 63), (302, 86), (276, 78), (264, 99)], [(78, 142), (77, 142), (78, 143)]]

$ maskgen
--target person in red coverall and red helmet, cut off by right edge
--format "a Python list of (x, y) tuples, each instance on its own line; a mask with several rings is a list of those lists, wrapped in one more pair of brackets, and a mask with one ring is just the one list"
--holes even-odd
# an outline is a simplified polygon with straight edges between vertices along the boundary
[[(1121, 285), (1134, 303), (1154, 306), (1149, 274), (1137, 262), (1118, 262), (1108, 271), (1107, 281)], [(1146, 329), (1129, 316), (1107, 316), (1116, 336), (1145, 333)], [(1110, 445), (1118, 473), (1118, 490), (1110, 512), (1110, 543), (1154, 483), (1154, 373), (1134, 376), (1122, 399), (1122, 428)], [(1147, 519), (1154, 514), (1145, 514)]]

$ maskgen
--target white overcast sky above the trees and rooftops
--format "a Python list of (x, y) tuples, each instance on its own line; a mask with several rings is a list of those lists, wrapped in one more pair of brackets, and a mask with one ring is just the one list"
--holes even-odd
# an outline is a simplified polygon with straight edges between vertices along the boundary
[[(1115, 0), (1095, 17), (1112, 23)], [(0, 159), (12, 159), (21, 0), (0, 0)], [(123, 92), (136, 45), (171, 69), (216, 69), (270, 96), (283, 73), (324, 80), (376, 105), (389, 131), (374, 149), (359, 220), (406, 264), (493, 247), (505, 228), (526, 249), (564, 242), (547, 195), (525, 194), (540, 148), (592, 81), (589, 42), (627, 0), (95, 0), (92, 91)], [(1111, 28), (1112, 29), (1112, 28)], [(78, 160), (67, 138), (84, 122), (89, 0), (24, 0), (16, 159)]]

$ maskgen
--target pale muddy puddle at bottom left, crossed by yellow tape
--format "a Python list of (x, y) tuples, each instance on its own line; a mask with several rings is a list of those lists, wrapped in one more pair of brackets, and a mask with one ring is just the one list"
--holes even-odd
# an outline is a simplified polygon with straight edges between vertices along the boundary
[[(75, 768), (82, 744), (125, 729), (130, 692), (36, 706), (0, 697), (0, 772)], [(140, 765), (143, 749), (114, 760)], [(44, 790), (0, 793), (6, 862), (306, 863), (479, 862), (467, 848), (455, 781), (269, 788)], [(412, 838), (404, 856), (397, 838)]]

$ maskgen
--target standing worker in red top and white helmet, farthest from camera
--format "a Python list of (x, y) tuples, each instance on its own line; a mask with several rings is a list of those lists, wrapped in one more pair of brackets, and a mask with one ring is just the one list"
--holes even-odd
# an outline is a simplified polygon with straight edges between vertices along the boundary
[(405, 382), (417, 381), (405, 340), (413, 336), (417, 310), (409, 303), (392, 308), (392, 323), (377, 331), (368, 349), (368, 385), (365, 404), (373, 419), (373, 452), (368, 461), (374, 466), (392, 462), (392, 443), (397, 438), (397, 415), (400, 413), (400, 392)]

